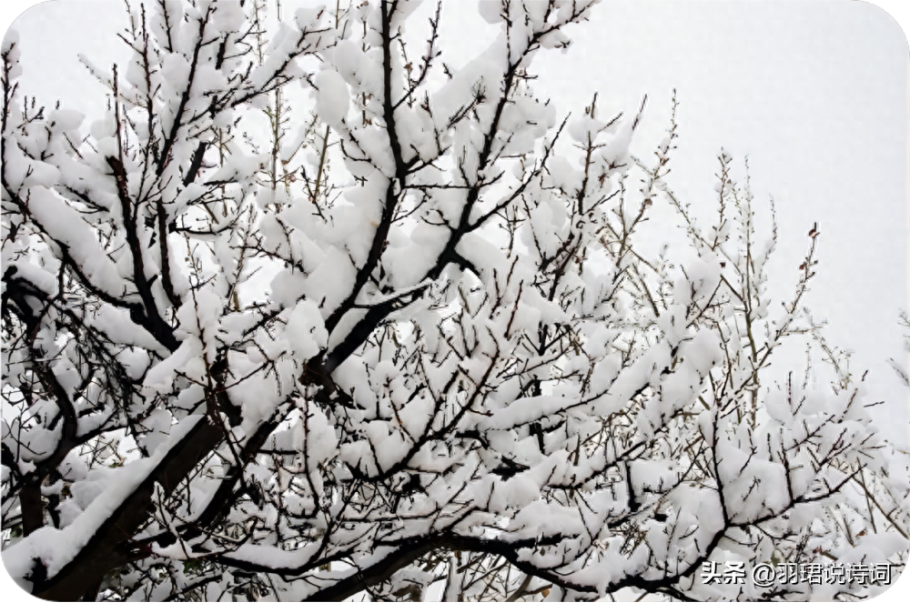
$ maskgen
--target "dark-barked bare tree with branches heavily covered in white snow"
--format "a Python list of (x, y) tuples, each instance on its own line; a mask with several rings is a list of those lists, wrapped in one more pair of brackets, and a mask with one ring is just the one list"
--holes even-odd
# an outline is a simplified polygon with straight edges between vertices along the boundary
[[(89, 65), (110, 107), (87, 133), (20, 94), (6, 36), (3, 560), (22, 588), (824, 598), (883, 587), (701, 572), (905, 566), (907, 485), (802, 307), (818, 226), (778, 309), (776, 231), (757, 238), (728, 154), (704, 228), (664, 179), (675, 117), (645, 161), (643, 103), (560, 121), (534, 95), (533, 56), (596, 4), (484, 0), (501, 35), (458, 71), (441, 3), (420, 51), (419, 0), (300, 9), (270, 40), (261, 1), (132, 5), (129, 65)], [(649, 255), (656, 206), (690, 256)], [(825, 350), (830, 391), (761, 380), (785, 337)]]

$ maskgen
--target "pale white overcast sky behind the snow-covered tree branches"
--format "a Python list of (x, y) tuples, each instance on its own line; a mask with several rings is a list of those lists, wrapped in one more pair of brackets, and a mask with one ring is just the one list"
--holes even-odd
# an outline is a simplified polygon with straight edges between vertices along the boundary
[[(313, 4), (285, 0), (284, 14)], [(425, 0), (410, 28), (423, 27), (434, 6)], [(443, 4), (441, 45), (450, 65), (465, 64), (496, 34), (471, 15), (475, 6)], [(115, 37), (124, 25), (118, 0), (29, 9), (13, 25), (25, 92), (97, 118), (104, 90), (76, 54), (102, 68), (125, 64), (129, 54)], [(874, 5), (851, 0), (608, 0), (570, 35), (566, 55), (535, 59), (535, 90), (550, 96), (560, 115), (580, 112), (595, 90), (601, 116), (634, 111), (647, 94), (633, 143), (633, 152), (647, 157), (669, 125), (675, 87), (681, 138), (670, 184), (704, 207), (704, 216), (714, 207), (720, 148), (737, 160), (749, 156), (756, 214), (772, 195), (778, 210), (772, 295), (791, 295), (806, 233), (819, 223), (820, 263), (807, 302), (816, 319), (828, 320), (829, 342), (854, 350), (854, 370), (869, 369), (866, 402), (886, 401), (874, 416), (906, 449), (910, 392), (885, 364), (889, 357), (910, 364), (907, 333), (898, 326), (899, 309), (910, 309), (910, 56), (900, 26)], [(742, 176), (742, 163), (735, 167)], [(802, 350), (776, 364), (778, 375), (802, 375)]]

